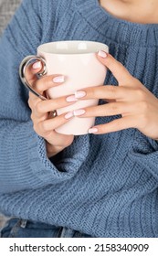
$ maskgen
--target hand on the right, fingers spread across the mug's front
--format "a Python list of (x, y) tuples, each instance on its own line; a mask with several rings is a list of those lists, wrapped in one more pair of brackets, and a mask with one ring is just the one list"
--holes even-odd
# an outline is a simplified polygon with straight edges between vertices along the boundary
[(100, 51), (97, 57), (111, 70), (119, 86), (106, 85), (77, 91), (75, 95), (79, 100), (103, 99), (108, 103), (78, 110), (74, 114), (80, 117), (121, 114), (121, 118), (110, 123), (91, 127), (89, 133), (111, 133), (137, 128), (146, 136), (158, 139), (158, 99), (110, 54)]

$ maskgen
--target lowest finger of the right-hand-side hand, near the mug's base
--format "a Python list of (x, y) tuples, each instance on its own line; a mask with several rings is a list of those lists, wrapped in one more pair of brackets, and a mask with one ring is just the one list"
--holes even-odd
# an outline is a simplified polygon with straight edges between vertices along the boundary
[(136, 128), (137, 122), (134, 116), (125, 116), (110, 123), (96, 125), (90, 128), (89, 133), (103, 134), (118, 132), (128, 128)]

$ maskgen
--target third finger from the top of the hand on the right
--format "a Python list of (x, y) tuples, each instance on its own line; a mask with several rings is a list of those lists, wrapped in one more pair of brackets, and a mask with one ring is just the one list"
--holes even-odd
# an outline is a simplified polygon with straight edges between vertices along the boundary
[(134, 106), (127, 102), (111, 102), (99, 106), (79, 109), (74, 111), (75, 116), (80, 117), (98, 117), (98, 116), (111, 116), (111, 115), (127, 115), (133, 114)]

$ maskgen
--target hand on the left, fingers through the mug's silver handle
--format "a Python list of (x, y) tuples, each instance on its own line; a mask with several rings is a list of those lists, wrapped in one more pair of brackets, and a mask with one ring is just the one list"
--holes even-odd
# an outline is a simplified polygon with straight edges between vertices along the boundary
[[(41, 67), (40, 61), (29, 65), (26, 68), (26, 80), (34, 87), (35, 91), (46, 96), (45, 91), (51, 87), (59, 86), (64, 82), (64, 76), (50, 75), (38, 80), (36, 74), (40, 71)], [(74, 99), (70, 97), (70, 101), (68, 101), (68, 97), (42, 101), (32, 92), (29, 92), (28, 105), (32, 111), (31, 119), (34, 125), (33, 127), (35, 132), (46, 140), (47, 157), (57, 155), (64, 148), (68, 147), (68, 145), (72, 144), (73, 135), (57, 133), (55, 129), (67, 123), (73, 117), (73, 113), (67, 112), (53, 118), (51, 112), (71, 105), (75, 101), (77, 101), (75, 97)]]

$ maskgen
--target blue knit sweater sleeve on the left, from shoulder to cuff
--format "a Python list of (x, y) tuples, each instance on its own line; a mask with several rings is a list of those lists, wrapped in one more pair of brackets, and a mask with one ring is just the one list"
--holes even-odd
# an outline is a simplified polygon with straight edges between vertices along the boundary
[(63, 182), (75, 176), (89, 153), (88, 137), (76, 138), (54, 165), (47, 158), (45, 140), (33, 130), (28, 91), (19, 80), (18, 67), (41, 43), (40, 4), (24, 0), (0, 39), (0, 194)]

